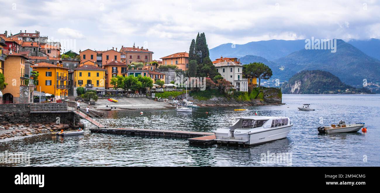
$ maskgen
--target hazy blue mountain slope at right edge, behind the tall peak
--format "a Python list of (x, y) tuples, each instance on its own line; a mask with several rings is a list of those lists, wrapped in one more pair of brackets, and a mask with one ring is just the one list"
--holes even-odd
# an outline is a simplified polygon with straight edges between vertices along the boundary
[(350, 40), (347, 43), (355, 46), (370, 57), (380, 60), (380, 40), (371, 38), (369, 40)]

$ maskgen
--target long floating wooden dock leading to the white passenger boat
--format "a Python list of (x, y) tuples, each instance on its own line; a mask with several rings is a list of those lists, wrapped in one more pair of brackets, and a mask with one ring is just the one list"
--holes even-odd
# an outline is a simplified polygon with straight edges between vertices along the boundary
[(90, 128), (91, 133), (130, 134), (152, 137), (187, 138), (190, 144), (216, 144), (215, 133), (139, 128)]

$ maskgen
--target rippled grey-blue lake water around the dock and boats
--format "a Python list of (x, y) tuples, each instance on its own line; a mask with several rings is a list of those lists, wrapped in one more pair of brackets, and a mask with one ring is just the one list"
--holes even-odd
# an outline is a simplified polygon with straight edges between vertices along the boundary
[[(380, 95), (283, 95), (286, 105), (199, 108), (193, 113), (175, 109), (108, 111), (109, 127), (138, 127), (215, 131), (231, 117), (288, 116), (294, 126), (288, 137), (249, 148), (193, 146), (186, 139), (98, 134), (38, 135), (0, 141), (0, 152), (27, 152), (31, 166), (285, 166), (263, 163), (261, 153), (291, 153), (292, 166), (380, 166)], [(315, 111), (298, 111), (310, 103)], [(289, 106), (289, 108), (287, 108)], [(206, 112), (209, 112), (206, 114)], [(317, 127), (365, 122), (367, 133), (318, 134)], [(323, 124), (321, 124), (323, 122)], [(364, 160), (364, 161), (363, 161)], [(10, 166), (11, 164), (6, 164)], [(16, 164), (17, 165), (17, 164)], [(19, 164), (23, 166), (23, 164)]]

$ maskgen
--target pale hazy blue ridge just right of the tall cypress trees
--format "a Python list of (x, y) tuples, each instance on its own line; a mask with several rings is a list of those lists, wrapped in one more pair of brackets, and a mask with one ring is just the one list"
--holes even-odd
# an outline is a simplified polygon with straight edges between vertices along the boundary
[[(235, 46), (235, 47), (234, 47)], [(305, 40), (253, 41), (246, 44), (222, 44), (210, 49), (210, 59), (257, 55), (268, 60), (279, 59), (305, 47)]]

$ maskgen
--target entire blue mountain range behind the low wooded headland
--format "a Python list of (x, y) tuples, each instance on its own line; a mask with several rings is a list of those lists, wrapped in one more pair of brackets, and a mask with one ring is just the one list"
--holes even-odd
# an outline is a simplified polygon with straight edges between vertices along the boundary
[(269, 40), (243, 45), (222, 44), (210, 49), (211, 59), (238, 57), (243, 64), (263, 62), (272, 71), (272, 79), (285, 82), (302, 70), (325, 70), (345, 84), (363, 86), (380, 82), (380, 40), (337, 40), (336, 52), (305, 49), (305, 40)]

